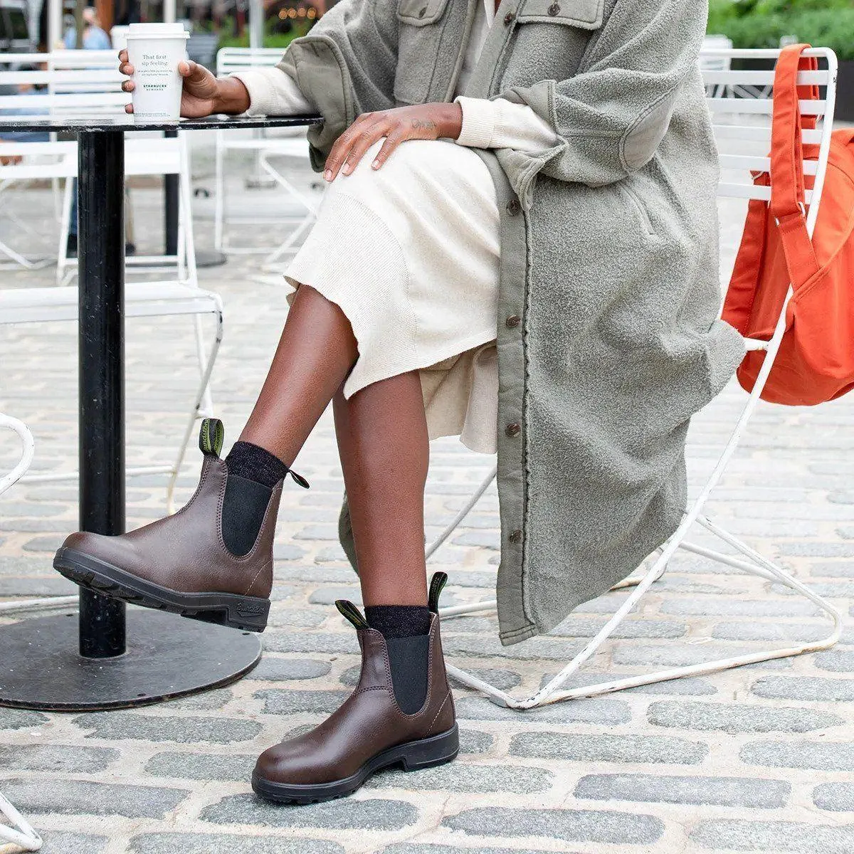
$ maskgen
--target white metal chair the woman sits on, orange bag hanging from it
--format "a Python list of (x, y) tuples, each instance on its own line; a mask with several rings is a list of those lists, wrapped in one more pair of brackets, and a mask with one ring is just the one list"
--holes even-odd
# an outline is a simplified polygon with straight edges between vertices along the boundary
[[(705, 84), (711, 87), (712, 91), (717, 92), (717, 87), (723, 86), (727, 91), (736, 91), (740, 85), (752, 85), (771, 87), (774, 83), (774, 73), (772, 71), (733, 71), (728, 67), (720, 67), (723, 62), (728, 62), (732, 59), (776, 59), (779, 56), (778, 50), (713, 50), (710, 51), (711, 56), (704, 56), (705, 61), (715, 61), (718, 67), (715, 70), (705, 71)], [(814, 189), (807, 193), (806, 202), (809, 205), (809, 213), (807, 224), (810, 230), (810, 235), (816, 227), (816, 219), (818, 217), (819, 206), (822, 199), (822, 190), (824, 179), (828, 167), (828, 154), (830, 150), (830, 137), (833, 132), (834, 104), (836, 96), (836, 79), (838, 71), (838, 63), (836, 56), (832, 50), (815, 49), (810, 50), (807, 56), (816, 56), (827, 67), (822, 71), (802, 72), (799, 78), (801, 84), (814, 84), (827, 87), (827, 96), (823, 101), (802, 102), (801, 108), (804, 114), (816, 115), (821, 121), (818, 130), (804, 131), (804, 142), (819, 145), (820, 155), (817, 161), (804, 161), (805, 173), (815, 176)], [(732, 145), (739, 147), (741, 151), (755, 150), (757, 145), (761, 146), (758, 155), (739, 153), (736, 155), (723, 154), (721, 156), (723, 177), (718, 190), (718, 196), (721, 198), (735, 199), (759, 199), (764, 202), (770, 201), (770, 188), (758, 187), (753, 184), (752, 171), (768, 172), (770, 167), (769, 157), (766, 156), (770, 149), (771, 131), (770, 119), (773, 109), (773, 102), (769, 98), (744, 99), (737, 97), (718, 97), (717, 94), (708, 98), (708, 105), (711, 110), (712, 120), (715, 127), (715, 133), (718, 141), (722, 143), (722, 148), (730, 148)], [(788, 301), (792, 298), (792, 290), (789, 290), (787, 296)], [(617, 585), (617, 588), (635, 588), (629, 597), (623, 601), (614, 615), (605, 623), (605, 626), (600, 629), (593, 640), (590, 640), (586, 646), (567, 664), (557, 676), (547, 682), (540, 691), (529, 697), (517, 698), (512, 696), (500, 688), (489, 684), (487, 681), (473, 676), (465, 670), (460, 670), (458, 667), (448, 665), (448, 673), (452, 674), (460, 682), (473, 688), (477, 688), (488, 695), (497, 705), (503, 705), (512, 709), (533, 709), (542, 705), (557, 703), (561, 700), (581, 699), (585, 697), (595, 697), (600, 694), (620, 691), (624, 688), (637, 687), (640, 685), (650, 685), (655, 682), (668, 681), (677, 679), (683, 676), (704, 676), (710, 673), (716, 673), (720, 670), (728, 670), (733, 667), (740, 667), (744, 664), (756, 664), (762, 661), (770, 661), (775, 658), (789, 658), (791, 656), (802, 655), (805, 652), (816, 652), (822, 649), (828, 649), (830, 646), (839, 640), (841, 635), (841, 616), (833, 605), (830, 605), (827, 600), (813, 593), (810, 588), (806, 587), (797, 579), (793, 578), (780, 566), (773, 563), (763, 555), (757, 553), (755, 549), (748, 546), (738, 537), (729, 534), (719, 524), (715, 523), (711, 518), (705, 515), (704, 508), (710, 496), (718, 483), (720, 483), (724, 471), (726, 470), (730, 459), (738, 447), (740, 438), (746, 429), (753, 412), (759, 402), (759, 396), (769, 377), (772, 366), (774, 365), (776, 355), (780, 349), (783, 333), (786, 330), (786, 308), (782, 308), (780, 320), (776, 326), (775, 334), (770, 342), (763, 341), (746, 341), (746, 348), (749, 350), (764, 350), (766, 357), (763, 362), (762, 371), (757, 378), (756, 386), (752, 394), (748, 395), (745, 405), (740, 412), (740, 417), (734, 425), (732, 435), (723, 448), (720, 457), (717, 460), (711, 476), (706, 481), (704, 487), (699, 493), (699, 497), (687, 508), (682, 523), (676, 533), (670, 537), (664, 546), (658, 549), (658, 552), (651, 557), (646, 564), (646, 568), (639, 576), (633, 576), (624, 582)], [(448, 525), (447, 529), (442, 532), (442, 535), (428, 548), (427, 556), (436, 552), (442, 546), (442, 543), (447, 541), (448, 537), (453, 533), (459, 524), (465, 519), (472, 508), (480, 500), (481, 496), (486, 492), (489, 485), (495, 477), (495, 471), (481, 484), (477, 492), (472, 496), (471, 500), (458, 513), (453, 522)], [(717, 552), (713, 549), (694, 545), (686, 540), (689, 530), (694, 524), (705, 529), (707, 532), (715, 535), (718, 540), (726, 543), (733, 548), (740, 557), (734, 558), (731, 555)], [(594, 685), (584, 687), (576, 687), (570, 690), (563, 689), (566, 682), (576, 673), (577, 670), (591, 658), (595, 652), (605, 643), (617, 626), (623, 622), (630, 611), (635, 608), (640, 602), (640, 599), (646, 594), (652, 584), (664, 575), (667, 570), (670, 559), (676, 554), (676, 551), (682, 549), (689, 553), (700, 555), (703, 558), (717, 561), (719, 564), (724, 564), (728, 567), (743, 570), (760, 578), (767, 579), (771, 582), (781, 584), (794, 592), (805, 596), (828, 617), (831, 618), (834, 624), (833, 631), (830, 635), (822, 640), (810, 641), (808, 643), (793, 644), (793, 646), (785, 646), (767, 652), (751, 652), (744, 655), (737, 655), (732, 658), (721, 658), (716, 661), (710, 661), (705, 664), (693, 664), (685, 667), (675, 667), (670, 670), (661, 670), (656, 673), (644, 676), (630, 676), (623, 679), (615, 679), (612, 681), (600, 682)], [(453, 582), (453, 576), (452, 576)], [(614, 589), (617, 589), (614, 588)], [(480, 602), (473, 605), (459, 605), (442, 609), (443, 617), (454, 617), (462, 614), (470, 614), (477, 611), (493, 610), (496, 603), (494, 600)]]

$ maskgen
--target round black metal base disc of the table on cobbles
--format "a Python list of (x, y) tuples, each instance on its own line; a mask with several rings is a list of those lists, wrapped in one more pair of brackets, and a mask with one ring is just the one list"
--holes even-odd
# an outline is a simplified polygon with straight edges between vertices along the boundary
[(122, 709), (228, 685), (261, 655), (258, 635), (129, 608), (127, 652), (83, 658), (77, 613), (0, 626), (0, 705)]

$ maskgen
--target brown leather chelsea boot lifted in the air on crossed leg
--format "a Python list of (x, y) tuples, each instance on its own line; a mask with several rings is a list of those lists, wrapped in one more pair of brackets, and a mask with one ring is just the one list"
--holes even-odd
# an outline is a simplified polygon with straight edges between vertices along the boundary
[[(205, 418), (199, 437), (202, 477), (196, 494), (174, 516), (119, 536), (72, 534), (56, 553), (54, 569), (81, 587), (132, 605), (232, 629), (264, 631), (282, 483), (268, 499), (262, 494), (266, 511), (254, 541), (249, 537), (248, 551), (232, 553), (226, 543), (239, 536), (229, 537), (225, 526), (224, 539), (223, 508), (229, 501), (228, 466), (219, 459), (224, 438), (222, 422)], [(232, 488), (239, 478), (233, 480)], [(238, 532), (244, 540), (245, 533)]]

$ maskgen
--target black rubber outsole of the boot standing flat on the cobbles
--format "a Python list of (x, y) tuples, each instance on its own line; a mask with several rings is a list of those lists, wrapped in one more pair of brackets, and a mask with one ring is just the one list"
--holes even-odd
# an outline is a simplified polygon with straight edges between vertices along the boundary
[(389, 747), (369, 759), (356, 773), (330, 783), (295, 784), (265, 780), (257, 771), (252, 772), (252, 788), (255, 794), (278, 804), (314, 804), (319, 801), (343, 798), (354, 793), (375, 771), (400, 766), (404, 771), (418, 771), (442, 765), (456, 758), (459, 753), (459, 729), (454, 723), (447, 732), (433, 735), (429, 739), (407, 741), (406, 744)]

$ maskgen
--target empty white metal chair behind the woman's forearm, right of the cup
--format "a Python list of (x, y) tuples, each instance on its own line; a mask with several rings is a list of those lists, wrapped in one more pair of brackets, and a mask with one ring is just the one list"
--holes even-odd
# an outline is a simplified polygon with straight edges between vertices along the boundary
[[(278, 48), (221, 48), (217, 51), (217, 76), (245, 71), (251, 67), (272, 67), (282, 59), (282, 51)], [(213, 213), (214, 233), (213, 243), (219, 252), (231, 254), (266, 254), (262, 262), (265, 269), (274, 269), (287, 254), (295, 251), (297, 242), (313, 224), (317, 214), (317, 203), (305, 193), (297, 190), (291, 182), (276, 169), (271, 159), (287, 158), (308, 165), (308, 144), (306, 132), (300, 128), (295, 136), (269, 137), (265, 132), (255, 132), (252, 137), (236, 137), (234, 132), (218, 130), (215, 137), (215, 208)], [(229, 243), (227, 226), (229, 223), (240, 222), (237, 216), (229, 216), (226, 206), (225, 192), (225, 159), (230, 151), (249, 151), (258, 156), (258, 166), (273, 179), (283, 190), (285, 198), (295, 202), (297, 213), (294, 215), (278, 215), (269, 219), (259, 219), (255, 214), (243, 221), (257, 225), (259, 222), (270, 222), (276, 225), (289, 223), (293, 229), (282, 243), (276, 247), (237, 246)]]

